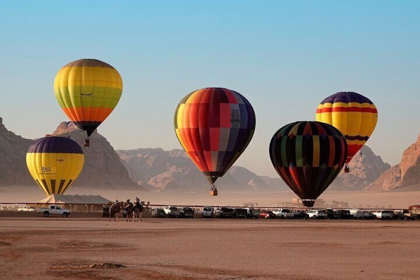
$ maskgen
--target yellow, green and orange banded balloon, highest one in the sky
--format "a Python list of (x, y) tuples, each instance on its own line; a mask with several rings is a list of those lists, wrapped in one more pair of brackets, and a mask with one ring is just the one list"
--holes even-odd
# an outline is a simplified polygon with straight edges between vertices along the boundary
[(111, 65), (97, 59), (79, 59), (63, 66), (54, 80), (61, 109), (89, 136), (114, 110), (122, 93), (122, 79)]

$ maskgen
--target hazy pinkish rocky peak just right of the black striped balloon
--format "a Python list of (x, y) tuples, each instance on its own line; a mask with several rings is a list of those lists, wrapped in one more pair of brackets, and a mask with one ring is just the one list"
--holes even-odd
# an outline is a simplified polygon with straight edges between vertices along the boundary
[(350, 172), (341, 171), (328, 190), (363, 190), (390, 167), (368, 146), (363, 146), (349, 163)]

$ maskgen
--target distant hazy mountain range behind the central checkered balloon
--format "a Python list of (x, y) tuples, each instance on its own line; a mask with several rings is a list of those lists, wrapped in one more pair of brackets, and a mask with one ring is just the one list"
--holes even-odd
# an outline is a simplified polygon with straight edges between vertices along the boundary
[[(133, 181), (153, 191), (208, 191), (209, 182), (183, 150), (118, 150)], [(279, 191), (286, 186), (281, 179), (259, 177), (250, 170), (233, 166), (216, 181), (227, 191)]]

